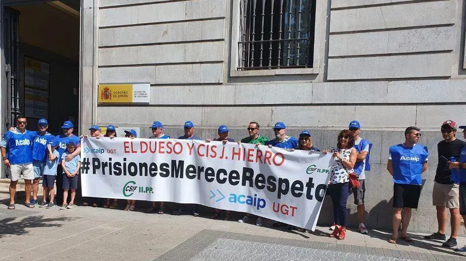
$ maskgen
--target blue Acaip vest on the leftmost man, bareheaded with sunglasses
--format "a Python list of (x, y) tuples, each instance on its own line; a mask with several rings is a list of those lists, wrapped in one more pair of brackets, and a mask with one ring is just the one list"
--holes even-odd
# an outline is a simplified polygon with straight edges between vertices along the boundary
[(1, 147), (7, 148), (8, 160), (11, 164), (24, 164), (33, 162), (33, 142), (37, 133), (26, 130), (24, 133), (17, 129), (7, 131), (3, 135)]

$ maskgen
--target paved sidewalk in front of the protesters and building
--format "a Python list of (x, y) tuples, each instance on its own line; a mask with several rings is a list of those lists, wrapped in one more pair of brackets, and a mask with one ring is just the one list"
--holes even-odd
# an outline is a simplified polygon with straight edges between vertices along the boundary
[[(206, 217), (208, 215), (205, 215)], [(0, 261), (460, 261), (466, 256), (410, 234), (413, 244), (387, 242), (389, 234), (354, 231), (346, 240), (234, 221), (127, 212), (92, 207), (71, 210), (0, 205)], [(464, 228), (462, 228), (464, 229)], [(466, 238), (458, 239), (459, 246)]]

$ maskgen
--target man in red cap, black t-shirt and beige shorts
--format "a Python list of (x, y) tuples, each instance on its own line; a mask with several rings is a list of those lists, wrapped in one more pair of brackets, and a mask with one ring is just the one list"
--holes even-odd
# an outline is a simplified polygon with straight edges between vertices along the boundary
[(443, 141), (437, 144), (438, 165), (432, 191), (432, 204), (437, 209), (438, 231), (425, 236), (426, 239), (445, 240), (445, 228), (447, 225), (447, 211), (451, 214), (451, 236), (442, 246), (457, 246), (456, 237), (460, 230), (460, 192), (458, 181), (452, 177), (452, 170), (448, 162), (459, 161), (460, 152), (466, 146), (464, 141), (456, 138), (456, 122), (446, 120), (440, 129)]

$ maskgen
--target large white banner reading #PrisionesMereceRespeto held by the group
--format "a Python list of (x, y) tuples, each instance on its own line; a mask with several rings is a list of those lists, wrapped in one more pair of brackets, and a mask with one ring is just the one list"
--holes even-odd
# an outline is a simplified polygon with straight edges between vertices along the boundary
[(314, 229), (331, 154), (176, 139), (83, 138), (83, 196), (195, 203)]

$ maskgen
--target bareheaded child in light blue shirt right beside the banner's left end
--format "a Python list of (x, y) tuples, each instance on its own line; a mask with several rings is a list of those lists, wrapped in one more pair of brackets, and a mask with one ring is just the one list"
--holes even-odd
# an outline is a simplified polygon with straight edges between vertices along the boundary
[[(61, 156), (61, 164), (63, 168), (63, 205), (60, 208), (63, 209), (72, 209), (75, 205), (75, 196), (76, 189), (78, 188), (78, 173), (79, 168), (81, 167), (81, 157), (77, 155), (70, 161), (66, 161), (66, 156), (75, 152), (76, 143), (68, 142), (66, 144), (66, 151)], [(66, 203), (68, 198), (68, 190), (71, 189), (71, 201), (70, 204)]]

